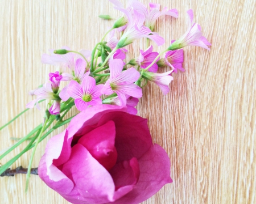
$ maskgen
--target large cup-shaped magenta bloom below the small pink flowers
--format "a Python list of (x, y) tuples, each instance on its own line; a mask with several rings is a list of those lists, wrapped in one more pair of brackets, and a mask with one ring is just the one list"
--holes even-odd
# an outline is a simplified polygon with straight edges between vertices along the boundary
[(96, 105), (52, 137), (40, 178), (71, 203), (141, 203), (172, 182), (170, 159), (147, 120), (126, 107)]

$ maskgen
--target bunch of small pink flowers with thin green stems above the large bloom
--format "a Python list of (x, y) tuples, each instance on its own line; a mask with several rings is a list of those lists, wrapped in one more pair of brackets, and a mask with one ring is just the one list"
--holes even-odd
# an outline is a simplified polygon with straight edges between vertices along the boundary
[[(113, 23), (92, 51), (83, 49), (76, 52), (64, 46), (61, 49), (50, 49), (50, 54), (43, 54), (42, 62), (57, 66), (59, 70), (49, 73), (48, 82), (32, 90), (31, 95), (36, 96), (36, 99), (30, 101), (26, 108), (36, 106), (40, 109), (39, 103), (48, 100), (45, 121), (0, 156), (2, 159), (22, 142), (30, 139), (30, 143), (19, 155), (2, 165), (0, 175), (24, 152), (34, 148), (28, 167), (29, 179), (36, 146), (53, 130), (71, 121), (74, 116), (64, 121), (63, 118), (74, 105), (78, 111), (85, 111), (94, 105), (114, 104), (126, 106), (127, 112), (137, 114), (134, 107), (142, 97), (142, 87), (148, 81), (156, 83), (166, 95), (173, 80), (171, 74), (177, 73), (178, 70), (185, 71), (182, 66), (185, 46), (201, 46), (209, 50), (210, 43), (203, 36), (200, 25), (193, 23), (192, 10), (188, 10), (189, 27), (183, 36), (172, 41), (161, 53), (154, 52), (154, 46), (151, 45), (146, 50), (140, 49), (139, 56), (127, 59), (127, 45), (137, 39), (145, 38), (147, 43), (152, 40), (157, 46), (163, 45), (163, 37), (155, 32), (156, 19), (164, 15), (177, 18), (178, 13), (176, 9), (163, 8), (160, 11), (160, 5), (154, 3), (150, 3), (148, 10), (138, 1), (130, 1), (126, 8), (116, 0), (109, 1), (115, 9), (123, 12), (123, 16)], [(101, 18), (112, 19), (104, 15)], [(118, 32), (121, 32), (121, 35), (115, 35)], [(107, 40), (104, 41), (106, 36)], [(118, 39), (118, 36), (121, 37)], [(163, 66), (169, 66), (170, 71), (158, 73), (158, 68)], [(60, 89), (60, 85), (64, 83), (68, 84)], [(45, 133), (55, 121), (55, 125)]]

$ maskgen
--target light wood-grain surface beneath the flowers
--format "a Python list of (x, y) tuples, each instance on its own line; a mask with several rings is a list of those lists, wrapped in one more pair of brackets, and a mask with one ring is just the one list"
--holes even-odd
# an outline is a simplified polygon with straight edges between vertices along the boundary
[[(179, 11), (178, 19), (166, 16), (158, 21), (156, 31), (167, 43), (156, 48), (152, 42), (155, 50), (165, 49), (186, 31), (189, 8), (212, 48), (184, 49), (186, 71), (174, 74), (167, 96), (152, 83), (143, 89), (138, 114), (148, 118), (154, 142), (168, 152), (174, 180), (143, 203), (256, 203), (255, 1), (152, 2)], [(120, 13), (106, 0), (0, 0), (0, 5), (1, 126), (23, 111), (32, 99), (28, 91), (55, 71), (40, 62), (43, 53), (63, 45), (92, 50), (112, 25), (97, 15)], [(129, 50), (137, 56), (139, 48), (144, 48), (143, 40)], [(40, 124), (43, 114), (33, 109), (1, 130), (0, 151), (13, 145), (11, 137), (23, 137)], [(34, 167), (48, 139), (40, 143)], [(24, 154), (12, 167), (26, 167), (30, 155)], [(1, 177), (0, 203), (67, 203), (34, 175), (25, 194), (25, 181), (24, 175)]]

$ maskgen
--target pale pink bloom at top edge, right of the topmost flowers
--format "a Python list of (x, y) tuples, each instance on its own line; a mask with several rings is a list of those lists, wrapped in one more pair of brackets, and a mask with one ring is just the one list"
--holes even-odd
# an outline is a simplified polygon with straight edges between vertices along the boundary
[(145, 25), (146, 27), (150, 28), (151, 31), (154, 30), (156, 19), (158, 19), (162, 15), (170, 15), (174, 18), (177, 18), (177, 10), (171, 9), (167, 11), (167, 7), (164, 7), (162, 11), (160, 11), (160, 5), (157, 3), (149, 3), (150, 5), (150, 11), (147, 10), (146, 6), (143, 5), (143, 3), (139, 1), (133, 2), (133, 7), (135, 10), (138, 10), (139, 12), (142, 12), (145, 19)]

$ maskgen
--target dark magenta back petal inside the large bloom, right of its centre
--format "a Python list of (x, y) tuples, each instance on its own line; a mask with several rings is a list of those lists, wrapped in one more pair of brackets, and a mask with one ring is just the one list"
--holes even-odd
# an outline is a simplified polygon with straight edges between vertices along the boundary
[(152, 145), (147, 119), (124, 112), (110, 112), (101, 117), (98, 125), (107, 121), (115, 123), (115, 148), (117, 162), (139, 159)]

